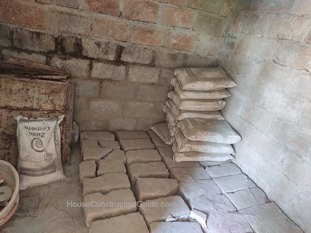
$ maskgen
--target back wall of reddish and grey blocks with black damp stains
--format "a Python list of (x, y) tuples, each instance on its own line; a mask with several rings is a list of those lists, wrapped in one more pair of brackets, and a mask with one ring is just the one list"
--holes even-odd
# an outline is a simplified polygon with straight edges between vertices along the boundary
[(70, 70), (85, 130), (148, 130), (174, 69), (218, 66), (233, 14), (197, 0), (2, 0), (1, 56)]

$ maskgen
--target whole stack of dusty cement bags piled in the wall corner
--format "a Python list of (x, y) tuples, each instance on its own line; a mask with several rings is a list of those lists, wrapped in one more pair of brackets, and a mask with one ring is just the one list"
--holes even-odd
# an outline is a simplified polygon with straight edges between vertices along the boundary
[[(226, 88), (236, 86), (234, 81), (221, 67), (178, 68), (174, 74), (176, 76), (171, 80), (174, 89), (168, 93), (169, 99), (163, 108), (168, 132), (165, 125), (159, 123), (162, 124), (161, 130), (166, 131), (162, 134), (171, 136), (174, 161), (226, 161), (233, 158), (231, 144), (240, 142), (241, 137), (219, 110), (225, 107), (223, 98), (231, 96)], [(164, 142), (169, 143), (167, 137)]]

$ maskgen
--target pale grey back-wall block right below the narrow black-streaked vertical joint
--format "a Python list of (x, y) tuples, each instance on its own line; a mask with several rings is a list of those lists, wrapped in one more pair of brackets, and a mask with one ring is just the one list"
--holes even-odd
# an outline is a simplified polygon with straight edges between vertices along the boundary
[(124, 80), (125, 66), (116, 66), (94, 61), (91, 77), (97, 79)]

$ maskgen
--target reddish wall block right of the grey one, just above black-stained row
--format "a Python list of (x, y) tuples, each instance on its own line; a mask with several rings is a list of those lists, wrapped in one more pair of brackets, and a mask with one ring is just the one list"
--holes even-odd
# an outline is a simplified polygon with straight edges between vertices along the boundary
[(105, 39), (129, 41), (130, 25), (120, 21), (94, 18), (93, 36)]

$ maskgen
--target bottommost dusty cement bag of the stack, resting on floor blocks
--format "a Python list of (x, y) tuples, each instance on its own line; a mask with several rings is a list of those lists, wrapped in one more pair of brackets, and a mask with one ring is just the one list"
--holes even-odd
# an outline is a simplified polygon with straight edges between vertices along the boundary
[(202, 153), (202, 152), (178, 152), (176, 139), (173, 138), (173, 151), (174, 157), (173, 160), (175, 162), (192, 162), (192, 161), (227, 161), (228, 159), (232, 159), (233, 156), (231, 154), (213, 154), (213, 153)]

